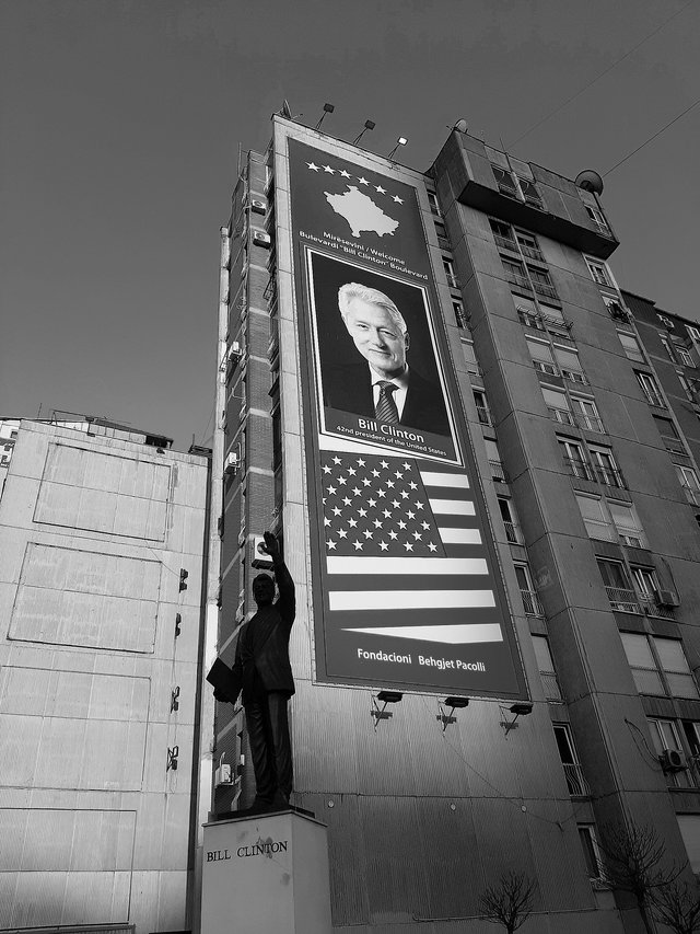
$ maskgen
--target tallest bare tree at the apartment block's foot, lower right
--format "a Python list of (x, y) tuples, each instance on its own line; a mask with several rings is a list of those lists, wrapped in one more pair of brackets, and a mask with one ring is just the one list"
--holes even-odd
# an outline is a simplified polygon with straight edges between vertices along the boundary
[(608, 825), (602, 833), (600, 849), (606, 880), (634, 897), (648, 934), (654, 934), (653, 896), (673, 885), (685, 865), (663, 865), (666, 844), (651, 825)]

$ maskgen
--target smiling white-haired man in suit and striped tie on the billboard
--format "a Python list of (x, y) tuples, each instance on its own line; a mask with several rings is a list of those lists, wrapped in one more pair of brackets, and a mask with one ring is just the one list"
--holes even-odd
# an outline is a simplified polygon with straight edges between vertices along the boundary
[[(397, 304), (380, 289), (349, 281), (338, 289), (337, 307), (338, 327), (346, 335), (337, 364), (324, 369), (324, 404), (380, 423), (450, 435), (443, 391), (413, 365), (411, 333)], [(425, 349), (417, 359), (425, 360)]]

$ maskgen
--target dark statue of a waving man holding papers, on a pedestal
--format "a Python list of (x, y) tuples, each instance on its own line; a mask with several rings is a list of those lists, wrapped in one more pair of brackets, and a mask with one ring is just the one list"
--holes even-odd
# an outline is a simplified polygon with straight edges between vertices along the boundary
[(264, 551), (272, 560), (279, 597), (275, 600), (275, 580), (270, 575), (258, 574), (253, 581), (257, 612), (238, 634), (232, 678), (225, 689), (214, 690), (218, 701), (232, 704), (243, 692), (255, 771), (252, 809), (259, 811), (289, 806), (292, 751), (287, 704), (294, 693), (289, 661), (289, 637), (295, 614), (294, 583), (271, 532), (265, 533)]

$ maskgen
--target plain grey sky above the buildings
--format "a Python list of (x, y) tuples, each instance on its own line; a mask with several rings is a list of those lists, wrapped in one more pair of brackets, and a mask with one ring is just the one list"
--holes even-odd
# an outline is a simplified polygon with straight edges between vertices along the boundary
[[(699, 87), (698, 0), (0, 0), (0, 417), (210, 443), (219, 229), (284, 99), (421, 171), (464, 118), (574, 178)], [(699, 143), (697, 106), (602, 198), (619, 285), (692, 320)]]

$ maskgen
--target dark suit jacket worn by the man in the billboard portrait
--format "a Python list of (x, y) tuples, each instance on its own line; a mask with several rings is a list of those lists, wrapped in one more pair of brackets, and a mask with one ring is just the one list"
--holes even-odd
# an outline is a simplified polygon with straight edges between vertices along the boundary
[[(363, 418), (376, 418), (374, 397), (368, 367), (336, 367), (324, 374), (325, 404), (329, 408), (351, 412)], [(408, 390), (400, 424), (434, 435), (450, 435), (450, 422), (442, 390), (421, 377), (417, 370), (408, 370)]]

